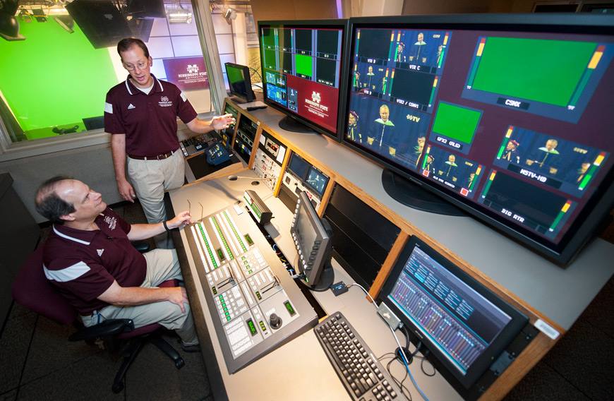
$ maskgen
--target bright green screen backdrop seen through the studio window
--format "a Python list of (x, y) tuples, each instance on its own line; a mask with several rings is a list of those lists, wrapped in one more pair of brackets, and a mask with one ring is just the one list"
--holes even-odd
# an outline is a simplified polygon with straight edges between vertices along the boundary
[[(29, 17), (26, 17), (29, 18)], [(102, 116), (117, 77), (107, 49), (94, 49), (75, 25), (68, 33), (49, 17), (25, 23), (25, 40), (0, 40), (0, 90), (28, 139), (56, 136), (54, 126), (78, 125)]]

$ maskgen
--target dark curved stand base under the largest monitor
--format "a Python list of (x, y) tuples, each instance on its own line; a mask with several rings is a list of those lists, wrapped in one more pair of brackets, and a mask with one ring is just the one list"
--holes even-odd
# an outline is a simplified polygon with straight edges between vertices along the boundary
[(466, 213), (452, 203), (426, 191), (419, 184), (390, 169), (384, 169), (382, 172), (382, 184), (388, 195), (410, 208), (437, 213), (438, 215), (466, 216)]

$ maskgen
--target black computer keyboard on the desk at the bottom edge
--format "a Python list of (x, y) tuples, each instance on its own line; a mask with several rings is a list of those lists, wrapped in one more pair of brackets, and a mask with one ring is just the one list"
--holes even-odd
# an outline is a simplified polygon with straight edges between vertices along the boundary
[(400, 400), (397, 385), (341, 312), (328, 316), (313, 330), (354, 400)]

